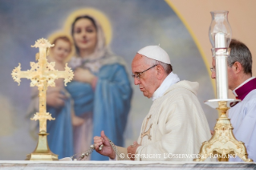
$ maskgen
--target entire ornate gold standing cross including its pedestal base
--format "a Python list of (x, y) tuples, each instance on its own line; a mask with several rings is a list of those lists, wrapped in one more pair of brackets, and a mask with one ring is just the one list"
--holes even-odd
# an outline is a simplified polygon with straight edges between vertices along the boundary
[(34, 46), (39, 48), (38, 63), (30, 62), (30, 70), (21, 71), (20, 63), (15, 67), (11, 75), (18, 85), (21, 78), (30, 79), (30, 87), (37, 86), (39, 89), (39, 112), (34, 115), (32, 120), (39, 120), (39, 143), (33, 153), (26, 157), (26, 160), (58, 160), (58, 156), (53, 154), (47, 144), (47, 119), (54, 120), (50, 113), (47, 113), (47, 87), (55, 87), (55, 79), (64, 78), (65, 86), (73, 79), (73, 72), (69, 67), (65, 71), (55, 70), (55, 63), (47, 62), (47, 51), (54, 44), (45, 38), (40, 38)]

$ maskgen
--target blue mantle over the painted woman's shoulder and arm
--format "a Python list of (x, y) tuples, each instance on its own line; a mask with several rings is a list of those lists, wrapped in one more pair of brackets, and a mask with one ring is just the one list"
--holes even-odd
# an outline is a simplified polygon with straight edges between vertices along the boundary
[[(95, 91), (87, 83), (73, 81), (67, 84), (67, 91), (74, 100), (75, 115), (92, 111), (92, 136), (100, 136), (104, 130), (114, 144), (123, 146), (124, 128), (132, 98), (127, 72), (123, 65), (114, 63), (104, 65), (95, 75), (98, 78)], [(108, 160), (108, 157), (92, 152), (91, 160)]]

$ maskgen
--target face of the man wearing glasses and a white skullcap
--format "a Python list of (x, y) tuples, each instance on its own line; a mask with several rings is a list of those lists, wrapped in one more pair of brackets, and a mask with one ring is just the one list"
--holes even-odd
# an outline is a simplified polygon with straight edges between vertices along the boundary
[[(142, 71), (147, 70), (151, 65), (145, 63), (145, 57), (136, 54), (134, 59), (132, 60), (132, 73), (136, 75), (136, 73), (140, 73)], [(156, 67), (152, 67), (148, 71), (145, 71), (140, 75), (140, 80), (136, 77), (134, 78), (134, 84), (139, 85), (140, 91), (143, 92), (145, 97), (151, 98), (153, 93), (156, 91), (158, 87), (157, 79), (156, 79)]]

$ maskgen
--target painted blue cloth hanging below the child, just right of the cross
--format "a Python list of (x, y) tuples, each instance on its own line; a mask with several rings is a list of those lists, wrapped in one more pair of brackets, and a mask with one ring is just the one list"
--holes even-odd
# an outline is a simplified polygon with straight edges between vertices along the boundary
[(47, 133), (49, 133), (47, 140), (51, 152), (59, 155), (59, 159), (74, 155), (71, 99), (66, 99), (63, 107), (47, 106), (47, 112), (55, 118), (47, 121)]

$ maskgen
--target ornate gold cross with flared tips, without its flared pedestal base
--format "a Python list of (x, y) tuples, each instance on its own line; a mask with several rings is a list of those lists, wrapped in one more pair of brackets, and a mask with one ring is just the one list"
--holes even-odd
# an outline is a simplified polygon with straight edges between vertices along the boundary
[(55, 87), (55, 79), (64, 78), (65, 86), (73, 79), (73, 72), (69, 67), (65, 67), (65, 71), (55, 70), (55, 62), (47, 62), (47, 50), (54, 47), (54, 44), (48, 42), (45, 38), (40, 38), (35, 42), (34, 46), (39, 48), (39, 62), (30, 62), (30, 70), (21, 71), (20, 63), (15, 67), (11, 75), (18, 85), (21, 78), (30, 79), (30, 87), (39, 87), (39, 112), (34, 115), (32, 120), (39, 120), (39, 132), (47, 132), (47, 119), (55, 119), (47, 113), (47, 87)]

